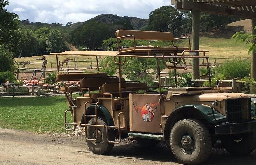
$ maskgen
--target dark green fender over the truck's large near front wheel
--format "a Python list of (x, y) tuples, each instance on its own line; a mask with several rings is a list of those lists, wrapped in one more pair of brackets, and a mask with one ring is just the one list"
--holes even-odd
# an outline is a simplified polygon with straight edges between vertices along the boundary
[(204, 104), (192, 104), (192, 105), (184, 105), (184, 106), (178, 107), (170, 114), (170, 116), (172, 116), (172, 114), (176, 113), (179, 110), (191, 109), (191, 108), (197, 109), (203, 115), (203, 117), (210, 123), (218, 123), (226, 120), (226, 117), (217, 111), (214, 111), (214, 115), (213, 115), (212, 108)]

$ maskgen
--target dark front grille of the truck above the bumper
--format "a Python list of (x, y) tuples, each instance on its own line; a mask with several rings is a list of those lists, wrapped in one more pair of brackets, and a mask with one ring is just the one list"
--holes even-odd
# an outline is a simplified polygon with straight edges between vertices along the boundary
[(225, 100), (225, 111), (228, 122), (237, 123), (251, 119), (251, 99), (238, 98)]

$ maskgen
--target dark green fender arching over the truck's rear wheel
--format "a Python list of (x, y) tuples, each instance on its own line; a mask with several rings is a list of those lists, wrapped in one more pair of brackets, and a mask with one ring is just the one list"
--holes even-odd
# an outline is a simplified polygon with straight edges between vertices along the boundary
[[(112, 116), (111, 114), (109, 113), (108, 109), (105, 108), (104, 106), (102, 105), (97, 105), (97, 109), (98, 111), (102, 112), (103, 115), (105, 116), (105, 118), (107, 119), (107, 122), (108, 122), (108, 125), (110, 126), (115, 126), (114, 125), (114, 121), (112, 119)], [(95, 112), (95, 105), (92, 105), (92, 106), (89, 106), (87, 109), (86, 109), (86, 112), (88, 111), (93, 111)], [(95, 113), (94, 113), (95, 114)], [(85, 115), (83, 114), (82, 116), (82, 119), (81, 119), (81, 123), (83, 123), (85, 121)]]

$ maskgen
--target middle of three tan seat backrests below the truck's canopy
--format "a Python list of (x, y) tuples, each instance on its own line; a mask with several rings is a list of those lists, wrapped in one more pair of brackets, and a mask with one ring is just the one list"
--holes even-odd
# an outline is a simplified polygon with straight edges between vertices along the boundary
[[(91, 91), (99, 90), (99, 87), (105, 84), (106, 82), (118, 82), (118, 77), (95, 77), (95, 78), (86, 78), (80, 80), (81, 88), (89, 88)], [(121, 81), (125, 81), (124, 78), (121, 78)]]

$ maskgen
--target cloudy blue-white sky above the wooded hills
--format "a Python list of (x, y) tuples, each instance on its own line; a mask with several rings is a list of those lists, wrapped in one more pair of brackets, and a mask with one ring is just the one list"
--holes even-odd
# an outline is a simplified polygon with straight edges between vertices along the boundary
[(156, 8), (171, 5), (171, 0), (8, 0), (8, 11), (20, 20), (62, 23), (84, 22), (100, 14), (148, 18)]

